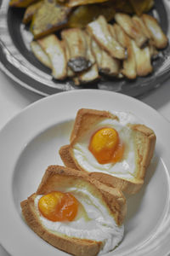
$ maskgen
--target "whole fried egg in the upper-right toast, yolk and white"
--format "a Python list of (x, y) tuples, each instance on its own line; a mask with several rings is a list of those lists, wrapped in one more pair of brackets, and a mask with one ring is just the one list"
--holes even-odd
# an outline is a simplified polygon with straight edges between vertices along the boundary
[(105, 172), (132, 179), (136, 172), (133, 131), (127, 124), (139, 124), (132, 113), (114, 112), (118, 119), (104, 119), (90, 126), (72, 146), (77, 164), (88, 172)]

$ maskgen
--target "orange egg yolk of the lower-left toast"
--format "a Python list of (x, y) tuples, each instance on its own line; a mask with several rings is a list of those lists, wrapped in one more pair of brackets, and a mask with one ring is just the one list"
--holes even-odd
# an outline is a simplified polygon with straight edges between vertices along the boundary
[(77, 216), (78, 201), (70, 193), (53, 191), (38, 201), (42, 216), (52, 221), (72, 221)]

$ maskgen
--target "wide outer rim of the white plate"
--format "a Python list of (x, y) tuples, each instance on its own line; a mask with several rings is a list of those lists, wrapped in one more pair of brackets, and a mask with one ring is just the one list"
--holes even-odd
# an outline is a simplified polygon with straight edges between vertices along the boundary
[[(101, 102), (102, 100), (103, 102)], [(68, 105), (69, 103), (71, 103), (71, 105), (69, 105), (70, 108), (66, 108), (65, 105)], [(124, 111), (130, 111), (139, 116), (143, 116), (143, 118), (149, 121), (150, 124), (156, 124), (156, 133), (159, 134), (159, 137), (161, 136), (161, 139), (158, 139), (157, 144), (161, 152), (161, 159), (163, 160), (165, 168), (167, 169), (167, 177), (169, 177), (170, 160), (168, 157), (168, 139), (170, 138), (170, 136), (168, 131), (170, 131), (170, 124), (167, 122), (166, 119), (161, 116), (161, 114), (157, 113), (155, 109), (150, 108), (148, 105), (130, 96), (125, 96), (120, 93), (111, 91), (109, 92), (105, 90), (71, 90), (68, 92), (61, 92), (53, 96), (48, 96), (42, 100), (39, 100), (38, 102), (35, 102), (29, 107), (25, 108), (13, 119), (8, 121), (8, 124), (5, 125), (0, 131), (0, 144), (3, 145), (3, 147), (1, 146), (0, 148), (0, 162), (2, 163), (2, 170), (6, 168), (5, 176), (3, 172), (0, 172), (0, 200), (2, 207), (0, 226), (3, 227), (3, 229), (1, 229), (3, 230), (3, 232), (0, 230), (0, 242), (11, 255), (23, 255), (23, 246), (19, 246), (20, 242), (22, 242), (22, 245), (24, 245), (25, 250), (28, 250), (28, 255), (31, 255), (33, 251), (31, 247), (26, 246), (26, 240), (29, 239), (30, 244), (31, 242), (34, 242), (35, 238), (34, 236), (32, 236), (31, 230), (28, 230), (27, 226), (23, 222), (21, 222), (20, 216), (14, 208), (14, 201), (12, 195), (12, 179), (14, 175), (13, 164), (17, 161), (20, 150), (26, 147), (26, 143), (29, 143), (29, 141), (33, 137), (37, 136), (38, 133), (44, 131), (45, 129), (48, 129), (48, 127), (54, 125), (56, 122), (63, 122), (67, 119), (73, 119), (76, 115), (76, 110), (78, 110), (78, 108), (98, 108), (105, 110), (111, 110), (112, 108), (112, 110), (117, 111), (124, 109)], [(43, 119), (42, 117), (45, 117), (45, 119)], [(23, 134), (20, 134), (20, 129), (21, 131), (22, 129), (24, 130), (24, 128), (26, 128), (27, 125), (31, 123), (31, 121), (34, 125), (30, 126), (29, 131), (27, 130), (26, 134), (24, 131)], [(14, 135), (12, 134), (9, 134), (9, 132), (11, 132), (11, 128), (15, 132), (16, 129), (19, 129), (19, 131), (17, 131), (18, 133), (16, 132), (16, 137), (14, 137)], [(24, 137), (24, 139), (22, 142), (18, 142), (20, 145), (17, 145), (17, 139), (19, 138), (19, 134), (22, 138)], [(7, 136), (8, 141), (6, 140)], [(11, 144), (11, 138), (14, 139), (13, 144)], [(6, 143), (4, 144), (4, 142)], [(163, 147), (161, 142), (163, 142)], [(11, 153), (10, 151), (12, 151), (14, 155), (9, 154)], [(8, 160), (8, 155), (6, 155), (5, 157), (5, 153), (7, 152), (9, 154), (10, 161)], [(6, 203), (6, 201), (3, 200), (4, 195), (6, 200), (8, 201), (8, 204)], [(148, 253), (147, 255), (156, 256), (160, 255), (159, 253), (161, 252), (161, 255), (164, 256), (170, 253), (170, 245), (167, 244), (167, 240), (170, 238), (169, 201), (170, 196), (168, 196), (168, 204), (164, 219), (162, 220), (161, 227), (157, 230), (156, 234), (154, 234), (154, 236), (150, 238), (150, 241), (145, 241), (143, 244), (140, 245), (140, 247), (135, 247), (135, 254), (133, 254), (132, 251), (129, 251), (123, 253), (123, 256), (144, 255), (144, 252), (147, 253), (148, 244), (150, 247), (150, 254)], [(6, 210), (8, 211), (5, 212)], [(11, 216), (12, 219), (10, 219)], [(12, 222), (12, 220), (14, 222)], [(4, 230), (5, 225), (6, 230)], [(12, 227), (13, 225), (17, 232), (15, 230), (10, 230), (9, 227)], [(164, 232), (164, 236), (162, 236), (162, 232)], [(24, 235), (26, 235), (26, 239), (23, 239)], [(156, 242), (159, 241), (158, 239), (161, 239), (161, 247), (157, 246)], [(39, 244), (37, 240), (37, 247), (33, 249), (34, 251), (35, 249), (38, 250), (38, 245)], [(146, 248), (144, 248), (144, 246), (146, 246)], [(155, 250), (152, 251), (153, 247), (155, 246), (157, 246), (156, 249), (158, 250), (158, 254), (155, 253)], [(42, 247), (42, 250), (44, 250), (44, 252), (47, 249), (47, 245)]]

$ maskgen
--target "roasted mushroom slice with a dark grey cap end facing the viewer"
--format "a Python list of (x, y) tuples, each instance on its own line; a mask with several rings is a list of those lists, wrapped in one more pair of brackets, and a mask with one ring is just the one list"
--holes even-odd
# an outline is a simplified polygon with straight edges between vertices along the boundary
[(88, 59), (88, 44), (85, 32), (80, 28), (65, 29), (61, 37), (69, 49), (70, 59), (67, 62), (74, 72), (82, 72), (92, 66)]

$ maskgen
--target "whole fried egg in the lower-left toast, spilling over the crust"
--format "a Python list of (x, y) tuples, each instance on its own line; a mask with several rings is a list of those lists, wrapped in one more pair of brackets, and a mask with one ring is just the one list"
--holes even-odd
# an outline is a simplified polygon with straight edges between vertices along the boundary
[(99, 254), (110, 252), (122, 241), (124, 226), (118, 226), (109, 208), (83, 187), (70, 187), (65, 193), (53, 191), (37, 195), (34, 204), (47, 230), (101, 241), (103, 247)]

